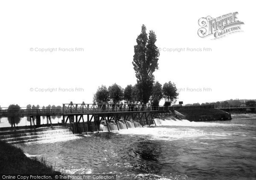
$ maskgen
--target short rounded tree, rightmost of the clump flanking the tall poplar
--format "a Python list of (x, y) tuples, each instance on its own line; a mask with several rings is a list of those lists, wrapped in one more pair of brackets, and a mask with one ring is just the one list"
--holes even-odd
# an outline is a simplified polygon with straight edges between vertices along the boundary
[(170, 106), (177, 101), (179, 93), (177, 92), (176, 85), (169, 81), (163, 84), (163, 98), (165, 100), (165, 106)]

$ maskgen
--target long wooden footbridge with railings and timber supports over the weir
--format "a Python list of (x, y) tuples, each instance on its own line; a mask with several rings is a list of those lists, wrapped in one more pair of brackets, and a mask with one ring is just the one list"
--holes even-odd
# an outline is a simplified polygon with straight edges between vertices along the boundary
[[(174, 109), (171, 107), (159, 107), (151, 105), (139, 104), (63, 104), (62, 107), (55, 108), (20, 108), (20, 109), (2, 109), (0, 110), (0, 118), (8, 117), (11, 119), (11, 127), (15, 127), (15, 118), (29, 117), (30, 125), (26, 128), (41, 127), (41, 118), (43, 116), (47, 119), (46, 126), (52, 126), (51, 117), (61, 116), (61, 123), (58, 125), (69, 126), (73, 133), (87, 133), (89, 131), (98, 131), (102, 121), (110, 131), (109, 123), (116, 124), (118, 130), (118, 121), (125, 122), (128, 128), (127, 120), (134, 123), (139, 122), (140, 125), (156, 125), (154, 118), (171, 114)], [(20, 128), (20, 127), (19, 127)], [(22, 127), (24, 128), (24, 127)]]

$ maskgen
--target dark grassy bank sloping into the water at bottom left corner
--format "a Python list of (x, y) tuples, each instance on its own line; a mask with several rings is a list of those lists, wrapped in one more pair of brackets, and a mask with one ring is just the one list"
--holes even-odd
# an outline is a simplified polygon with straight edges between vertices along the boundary
[(61, 174), (41, 157), (29, 158), (20, 148), (0, 141), (0, 174)]

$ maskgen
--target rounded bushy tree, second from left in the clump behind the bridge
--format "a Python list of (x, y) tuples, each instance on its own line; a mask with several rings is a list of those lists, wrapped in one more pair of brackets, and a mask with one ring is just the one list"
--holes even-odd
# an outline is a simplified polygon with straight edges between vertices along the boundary
[(113, 102), (114, 104), (122, 101), (124, 96), (124, 91), (122, 87), (117, 85), (116, 83), (108, 87), (108, 93), (109, 93), (109, 98), (111, 99), (111, 102)]

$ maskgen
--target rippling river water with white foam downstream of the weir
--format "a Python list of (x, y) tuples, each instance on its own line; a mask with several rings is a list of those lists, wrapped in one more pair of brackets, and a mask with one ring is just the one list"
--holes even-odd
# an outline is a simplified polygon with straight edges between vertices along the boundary
[(256, 178), (256, 119), (156, 123), (17, 146), (65, 173), (113, 173), (120, 180)]

